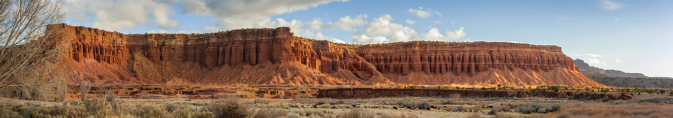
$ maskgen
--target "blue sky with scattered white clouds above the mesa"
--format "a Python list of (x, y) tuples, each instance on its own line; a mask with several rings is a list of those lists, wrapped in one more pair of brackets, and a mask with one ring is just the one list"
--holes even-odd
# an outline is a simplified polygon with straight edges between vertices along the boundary
[(289, 26), (347, 44), (557, 45), (599, 68), (673, 76), (673, 1), (65, 1), (66, 23), (127, 34)]

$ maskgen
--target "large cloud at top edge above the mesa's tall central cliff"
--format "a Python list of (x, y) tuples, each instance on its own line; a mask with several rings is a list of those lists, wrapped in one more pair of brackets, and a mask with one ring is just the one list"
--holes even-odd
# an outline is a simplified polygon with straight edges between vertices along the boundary
[(225, 29), (249, 27), (269, 27), (273, 22), (269, 17), (293, 11), (308, 10), (332, 1), (347, 0), (293, 0), (293, 1), (221, 1), (221, 0), (181, 0), (184, 14), (211, 15), (219, 26)]

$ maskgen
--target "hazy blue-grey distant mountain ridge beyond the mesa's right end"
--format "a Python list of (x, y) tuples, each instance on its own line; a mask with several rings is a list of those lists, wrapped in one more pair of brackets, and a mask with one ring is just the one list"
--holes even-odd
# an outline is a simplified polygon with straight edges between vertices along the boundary
[(575, 59), (575, 66), (579, 68), (579, 73), (584, 74), (584, 76), (612, 76), (612, 77), (631, 77), (631, 78), (649, 78), (642, 73), (629, 73), (623, 72), (620, 70), (604, 70), (603, 68), (597, 68), (590, 66), (584, 60)]

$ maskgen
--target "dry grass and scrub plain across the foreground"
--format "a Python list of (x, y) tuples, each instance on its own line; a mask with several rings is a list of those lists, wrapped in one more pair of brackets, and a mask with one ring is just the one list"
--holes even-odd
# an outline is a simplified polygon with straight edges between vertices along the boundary
[[(101, 102), (102, 101), (102, 102)], [(448, 102), (450, 101), (450, 102)], [(671, 117), (666, 102), (400, 97), (380, 99), (68, 99), (0, 107), (2, 117)], [(112, 103), (118, 103), (118, 112)], [(1, 105), (1, 104), (0, 104)], [(404, 106), (412, 107), (406, 109)], [(430, 106), (431, 109), (421, 109)], [(404, 107), (404, 108), (403, 108)], [(434, 109), (436, 107), (437, 109)], [(91, 108), (91, 109), (90, 109)], [(528, 114), (524, 114), (528, 113)]]

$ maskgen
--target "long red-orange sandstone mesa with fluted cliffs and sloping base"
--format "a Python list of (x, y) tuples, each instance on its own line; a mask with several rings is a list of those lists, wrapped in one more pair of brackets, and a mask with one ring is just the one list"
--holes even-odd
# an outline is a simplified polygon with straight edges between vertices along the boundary
[(289, 27), (208, 34), (119, 34), (52, 24), (69, 83), (472, 84), (603, 86), (577, 72), (558, 46), (496, 42), (334, 44)]

